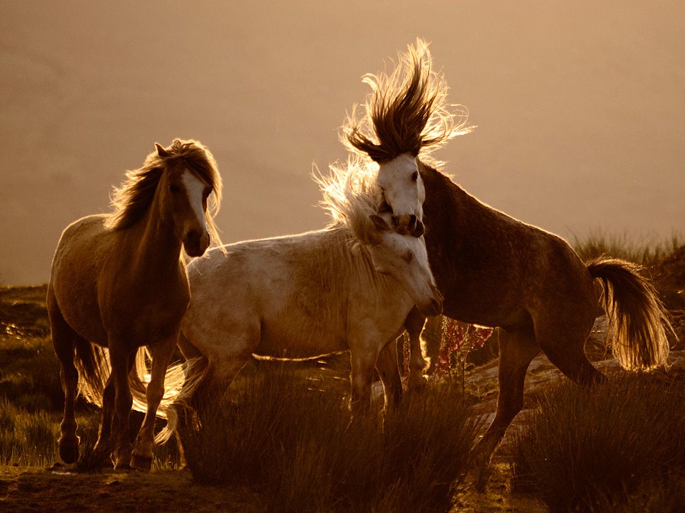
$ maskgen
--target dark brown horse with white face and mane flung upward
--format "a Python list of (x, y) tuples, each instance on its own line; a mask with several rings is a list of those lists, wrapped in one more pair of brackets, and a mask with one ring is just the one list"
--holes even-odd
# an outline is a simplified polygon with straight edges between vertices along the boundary
[[(370, 82), (375, 88), (365, 118), (348, 118), (345, 142), (379, 162), (381, 171), (383, 162), (412, 162), (418, 177), (405, 166), (403, 175), (385, 180), (383, 194), (397, 218), (419, 213), (430, 268), (444, 295), (444, 315), (502, 328), (500, 394), (495, 419), (480, 442), (483, 454), (491, 454), (520, 411), (524, 377), (540, 350), (574, 382), (604, 379), (583, 351), (600, 301), (612, 326), (608, 342), (625, 369), (666, 365), (666, 333), (673, 328), (639, 266), (617, 259), (584, 263), (563, 239), (481, 203), (438, 171), (437, 164), (419, 158), (455, 133), (444, 102), (447, 86), (430, 71), (423, 41), (401, 55), (395, 75), (403, 79)], [(460, 127), (463, 132), (463, 121)], [(423, 205), (396, 201), (422, 196)], [(412, 340), (410, 384), (422, 379), (419, 334), (424, 320), (413, 310), (405, 323)], [(396, 344), (388, 344), (379, 362), (396, 367), (395, 351)]]

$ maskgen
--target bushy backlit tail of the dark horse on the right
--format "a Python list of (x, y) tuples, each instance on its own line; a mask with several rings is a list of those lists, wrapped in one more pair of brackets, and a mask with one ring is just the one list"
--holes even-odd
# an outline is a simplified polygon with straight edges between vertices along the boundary
[(602, 282), (607, 314), (607, 343), (623, 369), (650, 371), (668, 367), (667, 333), (675, 337), (668, 311), (643, 268), (621, 259), (600, 257), (586, 263)]

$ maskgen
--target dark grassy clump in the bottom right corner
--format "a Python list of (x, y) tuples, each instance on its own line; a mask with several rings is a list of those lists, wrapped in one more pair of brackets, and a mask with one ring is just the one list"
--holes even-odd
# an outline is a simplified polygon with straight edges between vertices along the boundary
[(518, 435), (518, 481), (533, 483), (551, 510), (611, 510), (682, 474), (683, 381), (621, 373), (594, 389), (567, 382), (546, 393)]

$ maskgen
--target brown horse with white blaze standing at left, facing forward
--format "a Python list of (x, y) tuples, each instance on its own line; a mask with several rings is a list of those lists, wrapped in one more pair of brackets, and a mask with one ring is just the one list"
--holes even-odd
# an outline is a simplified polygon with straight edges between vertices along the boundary
[[(178, 139), (166, 149), (155, 147), (143, 167), (128, 171), (127, 181), (115, 189), (113, 214), (75, 221), (55, 250), (47, 306), (62, 366), (60, 456), (66, 463), (78, 458), (74, 402), (80, 374), (80, 391), (102, 401), (95, 454), (104, 459), (111, 452), (116, 411), (116, 467), (150, 468), (165, 371), (190, 300), (181, 246), (198, 257), (210, 236), (217, 236), (207, 201), (214, 192), (216, 212), (221, 178), (209, 150)], [(140, 346), (152, 353), (152, 380), (145, 420), (132, 447), (128, 376)]]

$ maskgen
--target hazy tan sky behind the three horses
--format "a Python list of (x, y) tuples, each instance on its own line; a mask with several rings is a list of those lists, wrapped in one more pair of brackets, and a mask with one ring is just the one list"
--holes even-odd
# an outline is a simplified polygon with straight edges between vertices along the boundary
[(224, 242), (324, 226), (312, 163), (417, 36), (478, 126), (435, 155), (468, 192), (565, 237), (685, 231), (679, 1), (0, 7), (3, 284), (47, 281), (64, 227), (174, 137), (219, 162)]

